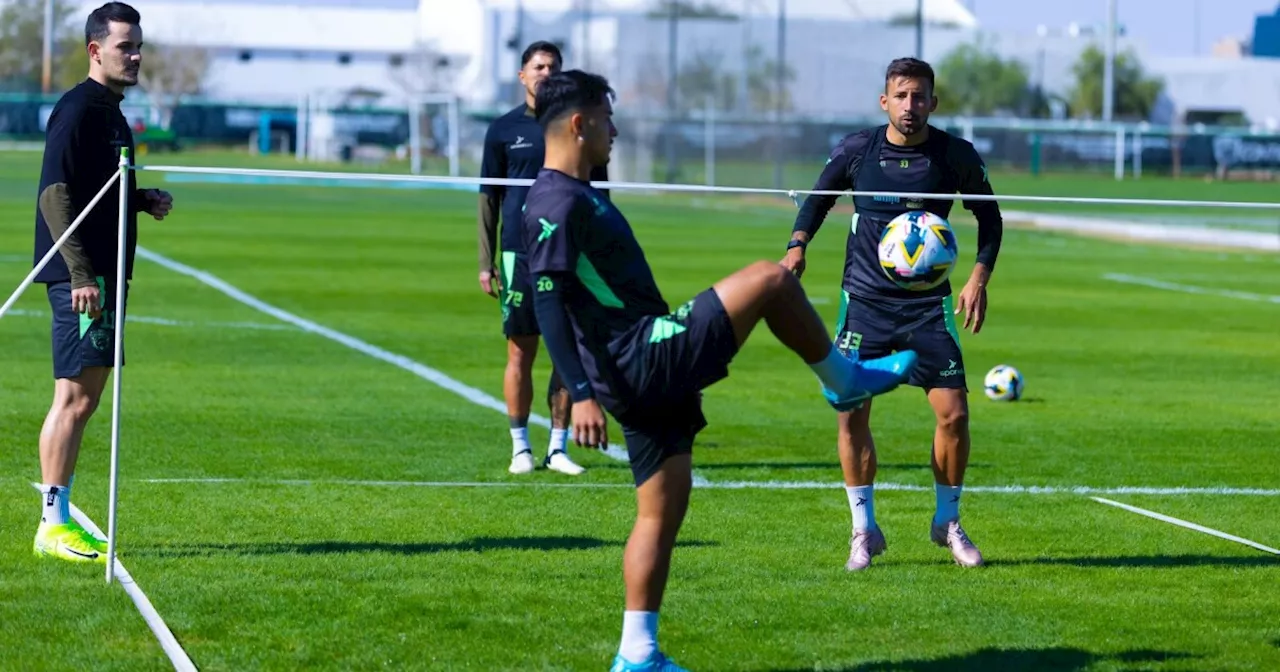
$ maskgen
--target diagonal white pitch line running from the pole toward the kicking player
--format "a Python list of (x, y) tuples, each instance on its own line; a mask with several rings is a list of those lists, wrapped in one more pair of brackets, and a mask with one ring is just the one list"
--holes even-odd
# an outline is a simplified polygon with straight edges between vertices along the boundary
[[(490, 410), (498, 411), (498, 412), (500, 412), (503, 415), (507, 413), (507, 404), (504, 402), (502, 402), (500, 399), (490, 397), (489, 394), (485, 394), (480, 389), (476, 389), (476, 388), (472, 388), (472, 387), (466, 385), (463, 383), (460, 383), (460, 381), (457, 381), (457, 380), (454, 380), (454, 379), (444, 375), (443, 372), (436, 371), (435, 369), (431, 369), (430, 366), (426, 366), (425, 364), (420, 364), (420, 362), (416, 362), (413, 360), (410, 360), (408, 357), (404, 357), (403, 355), (396, 355), (393, 352), (388, 352), (388, 351), (385, 351), (383, 348), (379, 348), (378, 346), (369, 344), (369, 343), (366, 343), (366, 342), (364, 342), (364, 340), (361, 340), (361, 339), (358, 339), (356, 337), (344, 334), (342, 332), (337, 332), (337, 330), (330, 329), (328, 326), (324, 326), (321, 324), (316, 324), (316, 323), (314, 323), (311, 320), (307, 320), (305, 317), (298, 317), (297, 315), (293, 315), (292, 312), (280, 310), (280, 308), (278, 308), (275, 306), (271, 306), (270, 303), (266, 303), (265, 301), (261, 301), (261, 300), (259, 300), (259, 298), (256, 298), (256, 297), (253, 297), (253, 296), (251, 296), (251, 294), (241, 291), (239, 288), (237, 288), (237, 287), (227, 283), (225, 280), (223, 280), (223, 279), (220, 279), (220, 278), (218, 278), (218, 276), (215, 276), (212, 274), (209, 274), (209, 273), (205, 273), (205, 271), (202, 271), (200, 269), (195, 269), (195, 268), (188, 266), (186, 264), (174, 261), (174, 260), (172, 260), (172, 259), (169, 259), (169, 257), (166, 257), (164, 255), (160, 255), (157, 252), (152, 252), (150, 250), (146, 250), (145, 247), (140, 246), (138, 251), (137, 251), (137, 255), (140, 257), (142, 257), (142, 259), (148, 260), (148, 261), (154, 261), (154, 262), (156, 262), (156, 264), (159, 264), (159, 265), (161, 265), (161, 266), (164, 266), (164, 268), (166, 268), (166, 269), (169, 269), (172, 271), (174, 271), (174, 273), (179, 273), (179, 274), (186, 275), (188, 278), (195, 278), (196, 280), (198, 280), (198, 282), (201, 282), (201, 283), (204, 283), (204, 284), (206, 284), (206, 285), (209, 285), (209, 287), (211, 287), (211, 288), (221, 292), (223, 294), (227, 294), (228, 297), (230, 297), (230, 298), (233, 298), (233, 300), (236, 300), (236, 301), (238, 301), (238, 302), (241, 302), (241, 303), (243, 303), (243, 305), (246, 305), (246, 306), (248, 306), (248, 307), (251, 307), (253, 310), (257, 310), (259, 312), (265, 312), (265, 314), (268, 314), (268, 315), (270, 315), (270, 316), (273, 316), (273, 317), (275, 317), (275, 319), (278, 319), (280, 321), (289, 323), (289, 324), (297, 326), (298, 329), (302, 329), (303, 332), (307, 332), (307, 333), (311, 333), (311, 334), (316, 334), (316, 335), (328, 338), (329, 340), (333, 340), (335, 343), (340, 343), (343, 346), (347, 346), (348, 348), (351, 348), (351, 349), (353, 349), (356, 352), (367, 355), (370, 357), (374, 357), (375, 360), (381, 360), (381, 361), (384, 361), (387, 364), (390, 364), (393, 366), (403, 369), (403, 370), (406, 370), (406, 371), (408, 371), (408, 372), (411, 372), (411, 374), (413, 374), (413, 375), (416, 375), (416, 376), (419, 376), (419, 378), (421, 378), (424, 380), (428, 380), (430, 383), (435, 383), (436, 385), (439, 385), (439, 387), (442, 387), (442, 388), (444, 388), (444, 389), (447, 389), (447, 390), (449, 390), (449, 392), (452, 392), (452, 393), (462, 397), (463, 399), (467, 399), (468, 402), (471, 402), (471, 403), (474, 403), (476, 406), (481, 406), (484, 408), (490, 408)], [(543, 417), (540, 415), (530, 415), (529, 416), (529, 421), (534, 422), (536, 425), (544, 426), (544, 428), (550, 428), (550, 425), (552, 425), (550, 420), (548, 420), (547, 417)], [(627, 462), (628, 461), (627, 460), (627, 452), (626, 452), (626, 449), (621, 448), (618, 445), (612, 445), (611, 444), (605, 451), (602, 451), (602, 452), (604, 454), (607, 454), (608, 457), (612, 457), (613, 460), (617, 460), (620, 462)]]

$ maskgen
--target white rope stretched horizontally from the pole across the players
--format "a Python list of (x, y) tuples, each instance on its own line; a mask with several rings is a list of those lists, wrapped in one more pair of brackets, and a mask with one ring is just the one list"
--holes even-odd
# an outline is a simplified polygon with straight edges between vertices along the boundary
[[(321, 170), (280, 170), (266, 168), (206, 168), (189, 165), (138, 165), (133, 170), (152, 173), (188, 173), (205, 175), (250, 175), (303, 179), (337, 179), (348, 182), (410, 182), (422, 184), (461, 184), (480, 187), (529, 187), (532, 179), (513, 178), (463, 178), (449, 175), (397, 175), (389, 173), (340, 173)], [(786, 196), (797, 201), (800, 195), (809, 196), (863, 196), (881, 198), (934, 200), (934, 201), (1020, 201), (1041, 204), (1092, 204), (1092, 205), (1144, 205), (1162, 207), (1226, 207), (1245, 210), (1280, 210), (1280, 202), (1262, 201), (1192, 201), (1169, 198), (1103, 198), (1082, 196), (1018, 196), (989, 193), (919, 193), (892, 191), (823, 191), (823, 189), (769, 189), (763, 187), (719, 187), (707, 184), (659, 184), (655, 182), (593, 182), (602, 189), (668, 191), (694, 193), (755, 193)]]

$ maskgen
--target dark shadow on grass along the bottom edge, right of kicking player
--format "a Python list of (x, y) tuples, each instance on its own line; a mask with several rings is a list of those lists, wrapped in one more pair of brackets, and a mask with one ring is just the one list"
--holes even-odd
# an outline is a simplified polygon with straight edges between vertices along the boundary
[(850, 667), (768, 668), (769, 672), (961, 672), (961, 671), (1079, 671), (1098, 663), (1156, 663), (1196, 658), (1178, 652), (1138, 649), (1117, 654), (1101, 654), (1084, 649), (1055, 646), (1051, 649), (978, 649), (972, 653), (920, 660), (876, 660)]

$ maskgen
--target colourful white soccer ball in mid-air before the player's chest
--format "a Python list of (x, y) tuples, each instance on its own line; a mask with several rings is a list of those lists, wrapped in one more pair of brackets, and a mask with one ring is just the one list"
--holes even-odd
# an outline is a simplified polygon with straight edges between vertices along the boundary
[(881, 234), (881, 270), (904, 289), (923, 292), (945, 283), (957, 256), (951, 223), (925, 210), (893, 218)]

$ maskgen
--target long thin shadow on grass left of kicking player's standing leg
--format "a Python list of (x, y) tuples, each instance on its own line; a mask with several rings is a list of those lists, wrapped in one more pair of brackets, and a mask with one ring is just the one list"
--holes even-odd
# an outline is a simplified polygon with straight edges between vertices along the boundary
[[(346, 553), (390, 553), (422, 556), (433, 553), (488, 553), (495, 550), (593, 550), (621, 548), (626, 540), (591, 536), (477, 536), (465, 541), (264, 541), (232, 544), (175, 544), (124, 549), (127, 556), (184, 558), (202, 556), (324, 556)], [(680, 548), (716, 547), (718, 541), (681, 540)]]

